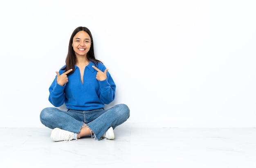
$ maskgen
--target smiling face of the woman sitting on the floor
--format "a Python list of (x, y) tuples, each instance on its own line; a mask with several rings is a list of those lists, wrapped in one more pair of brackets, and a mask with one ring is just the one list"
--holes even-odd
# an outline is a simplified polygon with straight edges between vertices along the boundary
[(79, 31), (73, 38), (73, 50), (76, 56), (86, 56), (91, 47), (91, 38), (85, 31)]

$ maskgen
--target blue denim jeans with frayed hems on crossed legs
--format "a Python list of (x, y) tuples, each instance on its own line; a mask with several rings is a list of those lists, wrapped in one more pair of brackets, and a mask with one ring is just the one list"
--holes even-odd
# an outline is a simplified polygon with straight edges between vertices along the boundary
[(73, 133), (79, 133), (85, 123), (96, 140), (100, 140), (109, 127), (119, 126), (130, 117), (130, 109), (125, 104), (115, 105), (104, 110), (79, 111), (69, 109), (60, 110), (56, 107), (47, 107), (40, 113), (40, 121), (50, 129), (60, 128)]

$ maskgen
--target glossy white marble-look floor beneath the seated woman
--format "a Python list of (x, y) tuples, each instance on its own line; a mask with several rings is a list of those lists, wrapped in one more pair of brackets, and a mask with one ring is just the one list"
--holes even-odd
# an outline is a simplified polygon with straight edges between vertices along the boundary
[(1, 168), (256, 168), (256, 128), (115, 129), (115, 140), (53, 142), (48, 128), (0, 128)]

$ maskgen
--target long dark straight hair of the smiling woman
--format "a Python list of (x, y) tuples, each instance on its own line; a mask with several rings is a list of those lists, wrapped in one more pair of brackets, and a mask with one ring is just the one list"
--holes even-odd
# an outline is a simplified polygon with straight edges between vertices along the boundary
[(79, 31), (85, 31), (86, 33), (88, 33), (88, 35), (91, 38), (91, 47), (90, 47), (90, 50), (88, 51), (88, 53), (86, 55), (87, 59), (92, 61), (95, 64), (95, 66), (97, 66), (99, 62), (102, 63), (101, 61), (95, 59), (92, 33), (90, 32), (90, 30), (88, 28), (80, 26), (80, 27), (76, 28), (73, 31), (73, 33), (72, 33), (72, 35), (70, 37), (70, 43), (68, 45), (68, 52), (67, 52), (67, 57), (66, 57), (66, 61), (65, 61), (66, 62), (66, 66), (62, 70), (65, 70), (65, 72), (70, 70), (70, 69), (73, 69), (73, 70), (70, 73), (68, 73), (67, 75), (71, 75), (72, 73), (74, 73), (75, 64), (76, 64), (76, 55), (75, 55), (74, 49), (72, 47), (72, 43), (73, 43), (74, 36)]

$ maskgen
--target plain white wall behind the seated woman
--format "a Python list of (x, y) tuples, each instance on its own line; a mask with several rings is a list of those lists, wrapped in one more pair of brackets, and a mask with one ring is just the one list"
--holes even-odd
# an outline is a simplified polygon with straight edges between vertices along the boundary
[[(0, 127), (45, 127), (70, 36), (90, 29), (128, 127), (256, 127), (254, 0), (0, 0)], [(65, 107), (61, 107), (65, 108)]]

